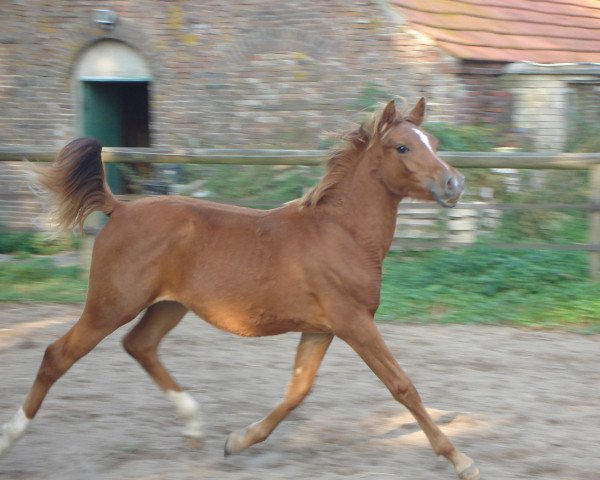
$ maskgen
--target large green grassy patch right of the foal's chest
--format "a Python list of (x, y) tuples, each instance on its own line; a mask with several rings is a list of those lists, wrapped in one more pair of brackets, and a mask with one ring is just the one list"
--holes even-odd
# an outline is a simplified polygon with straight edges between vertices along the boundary
[(464, 250), (390, 255), (378, 318), (600, 331), (600, 283), (580, 252)]

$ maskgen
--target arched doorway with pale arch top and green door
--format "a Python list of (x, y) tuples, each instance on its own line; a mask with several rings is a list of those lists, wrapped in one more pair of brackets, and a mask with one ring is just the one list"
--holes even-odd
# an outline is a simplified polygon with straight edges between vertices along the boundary
[[(103, 40), (85, 50), (75, 66), (80, 131), (106, 147), (150, 147), (152, 80), (146, 61), (117, 40)], [(114, 192), (123, 182), (113, 165), (107, 180)]]

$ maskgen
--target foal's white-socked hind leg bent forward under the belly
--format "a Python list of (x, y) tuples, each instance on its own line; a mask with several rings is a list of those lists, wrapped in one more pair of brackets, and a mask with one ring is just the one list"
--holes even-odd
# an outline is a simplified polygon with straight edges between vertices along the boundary
[(158, 358), (158, 346), (183, 318), (188, 309), (177, 302), (151, 305), (139, 323), (123, 339), (123, 347), (148, 372), (175, 404), (177, 416), (185, 423), (184, 435), (192, 440), (203, 436), (198, 420), (198, 404), (177, 384)]

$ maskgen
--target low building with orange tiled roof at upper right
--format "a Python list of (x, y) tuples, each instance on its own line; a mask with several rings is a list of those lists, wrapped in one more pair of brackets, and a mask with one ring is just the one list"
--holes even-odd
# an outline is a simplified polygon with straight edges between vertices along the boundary
[[(561, 151), (600, 121), (600, 5), (588, 0), (392, 0), (408, 26), (456, 61), (458, 120), (509, 122)], [(504, 118), (502, 115), (506, 115)]]

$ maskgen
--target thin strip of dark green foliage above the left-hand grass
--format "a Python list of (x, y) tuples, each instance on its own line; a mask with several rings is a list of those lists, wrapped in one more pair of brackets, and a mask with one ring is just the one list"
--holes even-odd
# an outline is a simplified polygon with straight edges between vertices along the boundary
[(0, 253), (31, 253), (52, 255), (79, 248), (80, 239), (74, 235), (48, 235), (31, 232), (0, 232)]

